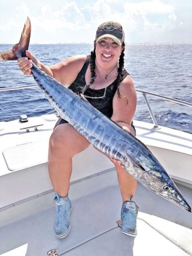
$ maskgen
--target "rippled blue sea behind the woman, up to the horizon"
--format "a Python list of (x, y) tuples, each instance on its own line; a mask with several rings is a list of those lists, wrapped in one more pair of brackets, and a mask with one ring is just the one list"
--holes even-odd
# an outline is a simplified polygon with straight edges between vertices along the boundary
[[(13, 45), (0, 45), (0, 52)], [(30, 45), (29, 50), (45, 65), (69, 56), (90, 54), (92, 44)], [(192, 103), (192, 44), (127, 44), (125, 67), (136, 89)], [(16, 61), (0, 62), (0, 88), (35, 84), (24, 76)], [(148, 96), (159, 125), (192, 133), (192, 108)], [(0, 92), (0, 122), (20, 115), (55, 113), (39, 88)], [(134, 119), (152, 122), (143, 95), (138, 93)]]

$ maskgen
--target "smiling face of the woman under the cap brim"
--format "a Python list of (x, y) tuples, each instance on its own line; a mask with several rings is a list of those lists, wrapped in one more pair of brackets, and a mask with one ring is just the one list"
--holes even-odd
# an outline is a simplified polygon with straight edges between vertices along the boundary
[(96, 61), (115, 65), (123, 51), (122, 45), (117, 44), (112, 38), (104, 37), (95, 44)]

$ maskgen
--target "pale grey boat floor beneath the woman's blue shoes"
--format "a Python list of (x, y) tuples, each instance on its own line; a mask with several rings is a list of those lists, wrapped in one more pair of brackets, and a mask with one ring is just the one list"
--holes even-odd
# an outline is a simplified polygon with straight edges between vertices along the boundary
[[(179, 187), (192, 204), (191, 189)], [(16, 222), (1, 227), (2, 255), (16, 248), (20, 251), (17, 254), (13, 251), (13, 255), (20, 256), (43, 256), (52, 249), (56, 249), (58, 255), (71, 256), (192, 255), (191, 214), (140, 185), (138, 236), (134, 239), (120, 233), (116, 221), (120, 218), (121, 197), (115, 170), (72, 184), (72, 227), (69, 235), (61, 240), (53, 230), (53, 198), (54, 194), (49, 193), (15, 207), (15, 212), (26, 216), (23, 218), (21, 214)]]

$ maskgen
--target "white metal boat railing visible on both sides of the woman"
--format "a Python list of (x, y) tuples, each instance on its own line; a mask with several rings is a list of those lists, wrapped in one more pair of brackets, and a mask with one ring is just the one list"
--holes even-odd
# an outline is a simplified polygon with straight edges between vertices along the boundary
[[(15, 91), (15, 90), (31, 89), (31, 88), (35, 88), (35, 87), (38, 87), (38, 86), (36, 84), (32, 84), (30, 86), (4, 87), (4, 88), (0, 88), (0, 92), (1, 91)], [(136, 91), (137, 91), (137, 93), (141, 93), (143, 95), (145, 103), (148, 108), (148, 111), (150, 112), (152, 122), (154, 123), (154, 128), (156, 128), (156, 129), (158, 129), (159, 126), (158, 126), (157, 120), (155, 119), (154, 113), (152, 112), (151, 105), (150, 105), (150, 102), (148, 101), (147, 95), (152, 95), (154, 97), (166, 99), (168, 101), (176, 102), (177, 104), (182, 104), (185, 106), (192, 106), (192, 103), (186, 102), (186, 101), (181, 101), (180, 99), (170, 98), (170, 97), (167, 97), (164, 95), (150, 93), (148, 91), (143, 91), (143, 90), (139, 90), (139, 89), (136, 89)]]

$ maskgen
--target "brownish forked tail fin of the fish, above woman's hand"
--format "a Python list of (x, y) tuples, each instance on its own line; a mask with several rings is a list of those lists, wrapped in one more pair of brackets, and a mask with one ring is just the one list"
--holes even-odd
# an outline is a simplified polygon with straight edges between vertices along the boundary
[(0, 52), (0, 61), (15, 61), (21, 57), (26, 56), (26, 50), (29, 48), (31, 35), (31, 22), (27, 17), (26, 23), (24, 24), (23, 32), (20, 37), (18, 44), (15, 44), (9, 51)]

